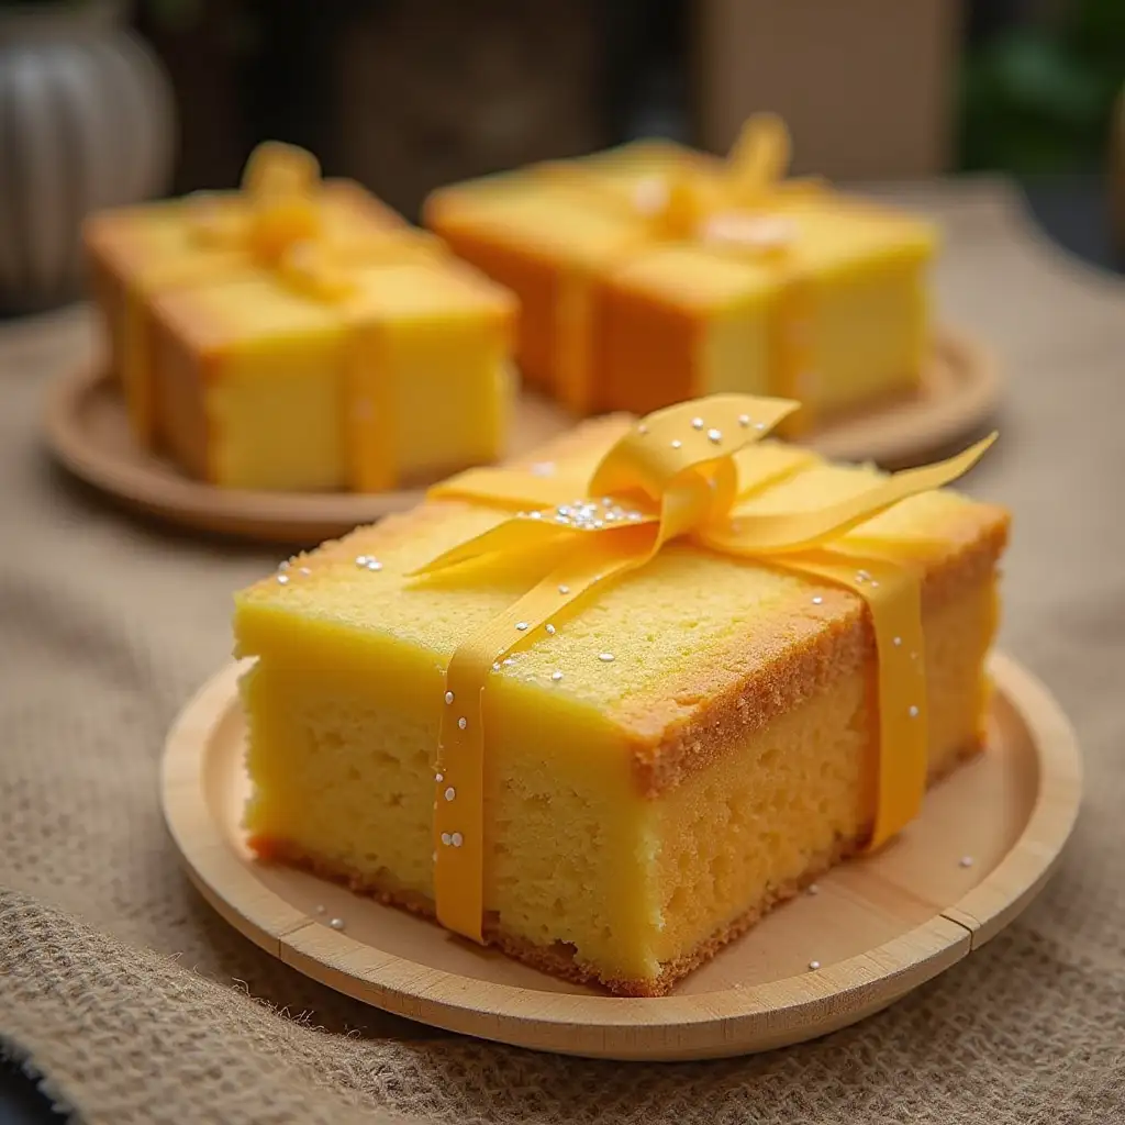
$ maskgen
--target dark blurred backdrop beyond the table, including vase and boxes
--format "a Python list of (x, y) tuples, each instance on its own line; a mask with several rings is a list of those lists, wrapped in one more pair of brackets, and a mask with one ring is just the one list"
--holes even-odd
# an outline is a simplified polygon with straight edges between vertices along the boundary
[(233, 186), (267, 137), (414, 216), (639, 135), (723, 151), (763, 108), (794, 171), (1006, 172), (1120, 268), (1123, 82), (1125, 0), (0, 0), (0, 290), (73, 291), (76, 210)]

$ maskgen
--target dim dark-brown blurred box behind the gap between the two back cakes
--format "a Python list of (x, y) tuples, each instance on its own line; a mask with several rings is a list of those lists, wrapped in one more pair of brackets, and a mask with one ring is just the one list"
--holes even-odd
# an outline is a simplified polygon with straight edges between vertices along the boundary
[(332, 65), (334, 166), (415, 217), (439, 184), (602, 147), (597, 3), (361, 6)]

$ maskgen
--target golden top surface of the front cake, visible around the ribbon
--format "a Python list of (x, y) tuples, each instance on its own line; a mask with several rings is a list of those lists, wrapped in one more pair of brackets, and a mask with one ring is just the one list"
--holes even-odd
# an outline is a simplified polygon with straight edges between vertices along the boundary
[[(540, 466), (588, 470), (626, 423), (588, 423), (562, 439)], [(740, 507), (811, 510), (870, 486), (875, 469), (829, 465), (790, 447), (767, 456), (804, 467)], [(539, 471), (539, 470), (537, 470)], [(479, 504), (429, 501), (405, 515), (353, 532), (292, 562), (240, 595), (241, 655), (259, 655), (280, 624), (318, 636), (405, 646), (441, 667), (475, 630), (533, 584), (528, 564), (486, 575), (456, 573), (418, 580), (407, 574), (510, 513)], [(906, 501), (861, 524), (843, 541), (891, 536), (900, 557), (922, 574), (956, 565), (991, 542), (1002, 544), (1005, 514), (948, 490)], [(375, 560), (375, 561), (372, 561)], [(552, 632), (537, 630), (494, 675), (598, 716), (633, 740), (659, 741), (703, 699), (764, 675), (786, 649), (813, 644), (863, 612), (860, 597), (782, 569), (720, 556), (677, 540), (642, 569), (584, 600)], [(561, 674), (561, 675), (559, 675)]]

